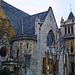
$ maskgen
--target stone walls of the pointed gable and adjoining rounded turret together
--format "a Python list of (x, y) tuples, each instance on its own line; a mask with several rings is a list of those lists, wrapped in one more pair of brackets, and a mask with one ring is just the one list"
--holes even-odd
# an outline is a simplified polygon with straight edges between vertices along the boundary
[[(19, 50), (19, 61), (22, 62), (22, 75), (24, 75), (24, 62), (25, 57), (24, 54), (31, 55), (30, 68), (28, 68), (27, 73), (29, 75), (42, 75), (42, 65), (43, 65), (43, 57), (45, 57), (45, 51), (47, 51), (47, 35), (50, 30), (53, 32), (54, 42), (57, 41), (58, 38), (58, 27), (55, 21), (54, 14), (52, 9), (49, 8), (49, 11), (45, 17), (45, 20), (42, 22), (42, 26), (40, 25), (39, 17), (36, 18), (35, 21), (35, 35), (37, 35), (37, 41), (33, 40), (19, 40), (13, 42), (13, 58), (16, 60), (17, 50)], [(29, 47), (27, 48), (27, 43)], [(54, 43), (53, 43), (54, 45)]]

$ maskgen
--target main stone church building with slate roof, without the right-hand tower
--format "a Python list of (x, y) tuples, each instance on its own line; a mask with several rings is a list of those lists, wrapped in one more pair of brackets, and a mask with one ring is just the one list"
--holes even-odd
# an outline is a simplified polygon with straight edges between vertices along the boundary
[(6, 26), (11, 27), (8, 35), (0, 35), (1, 68), (8, 67), (12, 75), (66, 75), (62, 29), (51, 7), (29, 15), (0, 0), (0, 10), (1, 19), (7, 19)]

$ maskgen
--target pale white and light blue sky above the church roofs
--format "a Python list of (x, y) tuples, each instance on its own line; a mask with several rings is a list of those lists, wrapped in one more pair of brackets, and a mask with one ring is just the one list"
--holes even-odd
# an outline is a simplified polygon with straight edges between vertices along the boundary
[(30, 14), (47, 11), (52, 7), (58, 27), (61, 17), (67, 20), (70, 11), (75, 15), (75, 0), (4, 0), (16, 8)]

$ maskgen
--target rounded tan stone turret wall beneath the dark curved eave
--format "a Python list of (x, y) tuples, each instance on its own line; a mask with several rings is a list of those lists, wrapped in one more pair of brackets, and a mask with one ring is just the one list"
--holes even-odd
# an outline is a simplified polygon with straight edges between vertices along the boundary
[[(28, 47), (27, 47), (28, 44)], [(17, 50), (18, 50), (18, 60), (21, 62), (21, 72), (22, 75), (25, 74), (25, 65), (27, 64), (24, 55), (31, 55), (30, 59), (30, 68), (28, 69), (28, 72), (36, 73), (36, 58), (37, 58), (37, 48), (36, 48), (36, 41), (33, 40), (21, 40), (21, 41), (15, 41), (13, 42), (13, 58), (14, 60), (17, 60)], [(35, 70), (34, 70), (35, 69)], [(33, 72), (34, 71), (34, 72)], [(33, 74), (32, 74), (33, 75)]]

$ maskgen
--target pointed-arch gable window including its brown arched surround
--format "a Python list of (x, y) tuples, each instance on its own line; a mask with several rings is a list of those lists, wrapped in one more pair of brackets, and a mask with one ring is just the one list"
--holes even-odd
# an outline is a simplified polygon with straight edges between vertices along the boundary
[(53, 30), (51, 29), (47, 34), (47, 46), (51, 46), (55, 44), (55, 37)]

